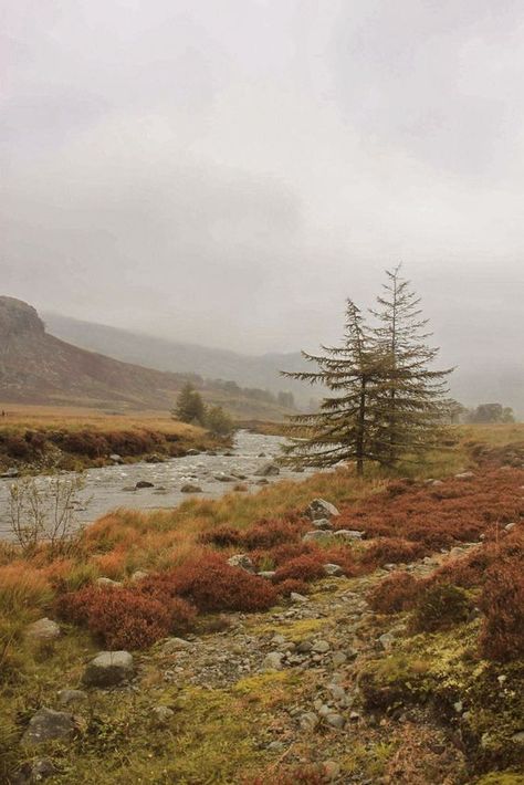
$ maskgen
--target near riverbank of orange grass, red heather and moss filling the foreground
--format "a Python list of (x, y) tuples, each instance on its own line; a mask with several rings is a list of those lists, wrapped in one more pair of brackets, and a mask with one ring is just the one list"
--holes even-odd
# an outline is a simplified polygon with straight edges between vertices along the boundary
[[(109, 785), (132, 772), (134, 782), (166, 785), (315, 785), (325, 782), (318, 766), (336, 756), (340, 783), (364, 772), (398, 785), (517, 785), (522, 436), (522, 426), (455, 435), (438, 470), (433, 461), (418, 478), (358, 480), (339, 469), (255, 495), (191, 499), (172, 511), (119, 510), (90, 526), (66, 556), (52, 556), (45, 545), (27, 555), (6, 546), (0, 778), (10, 782), (20, 765), (44, 754), (56, 767), (53, 784)], [(450, 468), (472, 474), (450, 477)], [(429, 483), (436, 474), (442, 480)], [(324, 538), (304, 542), (312, 526), (304, 511), (318, 496), (339, 515)], [(365, 534), (337, 538), (338, 528)], [(467, 552), (464, 543), (481, 544)], [(255, 571), (272, 571), (272, 579), (229, 566), (239, 553)], [(325, 578), (326, 563), (339, 565), (343, 577)], [(410, 573), (410, 565), (426, 572)], [(147, 576), (136, 579), (136, 571)], [(120, 586), (96, 587), (99, 577)], [(306, 604), (291, 603), (292, 592)], [(352, 613), (347, 599), (355, 601)], [(304, 615), (307, 607), (319, 613)], [(62, 636), (28, 639), (28, 624), (43, 616), (60, 621)], [(205, 650), (203, 679), (195, 657), (163, 648), (164, 638), (187, 636), (188, 628)], [(390, 630), (392, 650), (378, 639)], [(277, 646), (275, 635), (293, 646), (322, 636), (340, 652), (356, 651), (336, 672), (337, 683), (354, 690), (358, 719), (344, 730), (321, 722), (302, 733), (293, 712), (317, 700), (327, 660), (318, 671), (314, 662), (265, 671), (263, 655), (245, 640), (265, 652)], [(88, 690), (70, 742), (24, 745), (30, 718), (41, 706), (57, 708), (57, 690), (81, 685), (85, 662), (101, 648), (134, 651), (133, 689)], [(247, 653), (251, 670), (231, 674), (228, 662), (242, 663)], [(154, 713), (159, 704), (172, 712), (167, 722)], [(275, 737), (283, 749), (271, 746)], [(444, 761), (437, 747), (457, 754)]]

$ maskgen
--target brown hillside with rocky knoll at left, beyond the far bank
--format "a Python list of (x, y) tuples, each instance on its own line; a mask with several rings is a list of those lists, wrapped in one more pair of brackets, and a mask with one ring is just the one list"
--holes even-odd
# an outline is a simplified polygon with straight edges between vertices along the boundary
[[(0, 400), (81, 405), (118, 410), (167, 409), (188, 374), (163, 373), (73, 346), (45, 331), (36, 311), (13, 297), (0, 297)], [(287, 410), (255, 400), (241, 389), (199, 380), (211, 404), (238, 417), (279, 418)]]

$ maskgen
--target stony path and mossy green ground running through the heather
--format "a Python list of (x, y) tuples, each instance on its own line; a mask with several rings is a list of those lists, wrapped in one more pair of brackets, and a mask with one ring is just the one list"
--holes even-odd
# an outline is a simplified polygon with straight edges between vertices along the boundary
[[(471, 547), (478, 545), (407, 569), (429, 575)], [(455, 725), (440, 722), (434, 704), (368, 705), (363, 673), (402, 651), (407, 634), (402, 615), (374, 613), (366, 596), (399, 568), (406, 565), (326, 578), (266, 614), (207, 618), (198, 634), (160, 641), (122, 671), (114, 667), (108, 682), (122, 683), (112, 687), (106, 676), (88, 676), (91, 666), (72, 664), (59, 681), (42, 683), (52, 711), (33, 715), (29, 762), (12, 782), (476, 782), (464, 773)], [(54, 634), (48, 629), (48, 638)], [(459, 697), (458, 715), (465, 703)], [(57, 730), (42, 743), (50, 725)], [(51, 757), (40, 754), (46, 745)], [(93, 771), (104, 753), (102, 771)]]

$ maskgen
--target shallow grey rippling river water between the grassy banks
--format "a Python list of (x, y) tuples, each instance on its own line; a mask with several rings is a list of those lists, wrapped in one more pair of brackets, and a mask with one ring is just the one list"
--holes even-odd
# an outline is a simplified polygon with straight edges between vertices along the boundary
[[(230, 492), (235, 482), (242, 482), (250, 492), (260, 489), (256, 484), (261, 479), (256, 475), (266, 463), (281, 453), (284, 439), (275, 436), (262, 436), (242, 430), (238, 431), (231, 454), (200, 453), (172, 458), (164, 463), (133, 463), (129, 465), (88, 469), (83, 473), (85, 486), (78, 494), (76, 517), (80, 523), (91, 523), (97, 517), (116, 507), (135, 510), (169, 510), (188, 499), (181, 492), (186, 483), (202, 489), (200, 499), (217, 499)], [(263, 453), (263, 454), (261, 454)], [(282, 479), (304, 478), (311, 470), (297, 473), (282, 468), (279, 475), (268, 477), (269, 482)], [(223, 482), (220, 475), (245, 475), (245, 480), (234, 478), (234, 482)], [(153, 483), (153, 488), (135, 485), (140, 480)], [(49, 479), (36, 478), (39, 486), (45, 488)], [(9, 490), (13, 480), (0, 479), (0, 538), (10, 540)]]

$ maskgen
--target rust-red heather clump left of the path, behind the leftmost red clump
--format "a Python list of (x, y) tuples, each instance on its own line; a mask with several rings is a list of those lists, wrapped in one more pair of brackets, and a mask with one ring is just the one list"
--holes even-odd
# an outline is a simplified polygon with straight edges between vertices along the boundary
[(268, 580), (240, 567), (231, 567), (213, 553), (198, 562), (186, 562), (177, 569), (158, 576), (158, 580), (169, 585), (170, 592), (188, 599), (202, 611), (266, 610), (276, 596)]

